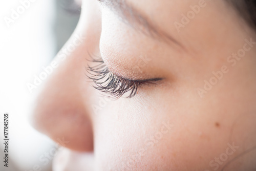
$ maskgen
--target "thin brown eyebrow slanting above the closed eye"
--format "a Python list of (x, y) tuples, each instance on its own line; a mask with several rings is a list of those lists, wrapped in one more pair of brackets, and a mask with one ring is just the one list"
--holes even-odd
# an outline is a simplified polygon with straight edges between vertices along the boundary
[(139, 29), (142, 33), (150, 35), (155, 39), (163, 39), (172, 41), (176, 45), (184, 48), (176, 39), (168, 35), (166, 32), (159, 29), (152, 21), (139, 12), (135, 7), (127, 4), (125, 0), (98, 0), (102, 6), (110, 8), (116, 12), (125, 24), (132, 26), (134, 29)]

